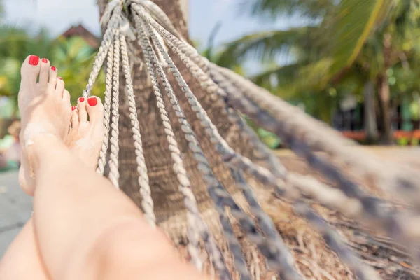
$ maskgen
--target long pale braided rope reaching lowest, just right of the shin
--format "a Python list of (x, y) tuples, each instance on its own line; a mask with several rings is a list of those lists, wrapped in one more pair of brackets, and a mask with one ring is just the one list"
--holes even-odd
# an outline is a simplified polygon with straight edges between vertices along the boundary
[[(191, 255), (191, 260), (195, 267), (202, 270), (202, 260), (200, 259), (200, 228), (202, 218), (200, 217), (200, 212), (197, 207), (197, 201), (195, 200), (195, 195), (191, 189), (191, 182), (188, 179), (187, 171), (183, 166), (181, 151), (178, 148), (178, 143), (176, 142), (174, 130), (172, 129), (171, 122), (169, 120), (168, 112), (165, 108), (165, 102), (162, 97), (162, 92), (160, 91), (158, 77), (156, 76), (155, 70), (158, 71), (159, 75), (165, 76), (165, 73), (158, 62), (158, 59), (153, 51), (152, 45), (148, 40), (144, 26), (137, 20), (137, 29), (139, 30), (139, 44), (143, 50), (144, 60), (148, 68), (148, 74), (151, 77), (153, 85), (153, 93), (156, 97), (156, 102), (158, 109), (160, 111), (160, 118), (162, 119), (162, 125), (165, 127), (165, 134), (167, 135), (167, 140), (169, 144), (169, 151), (171, 152), (172, 160), (174, 160), (174, 172), (176, 178), (179, 181), (179, 190), (184, 195), (184, 203), (186, 204), (187, 209), (187, 221), (188, 221), (188, 251)], [(153, 57), (153, 58), (151, 58)], [(152, 62), (153, 60), (153, 62)], [(153, 68), (153, 65), (155, 66)], [(206, 232), (209, 235), (209, 231)]]

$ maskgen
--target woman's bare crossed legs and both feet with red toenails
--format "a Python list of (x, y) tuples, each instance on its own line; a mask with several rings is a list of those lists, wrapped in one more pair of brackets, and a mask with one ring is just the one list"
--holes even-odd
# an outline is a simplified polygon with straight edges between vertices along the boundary
[(19, 106), (20, 183), (34, 195), (34, 215), (0, 262), (1, 280), (205, 279), (95, 172), (104, 135), (99, 98), (71, 107), (55, 67), (31, 55)]

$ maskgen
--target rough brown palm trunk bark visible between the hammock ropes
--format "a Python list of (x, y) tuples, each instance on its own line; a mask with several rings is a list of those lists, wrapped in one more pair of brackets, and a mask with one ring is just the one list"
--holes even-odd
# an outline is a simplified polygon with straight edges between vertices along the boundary
[[(181, 0), (155, 0), (169, 16), (179, 32), (190, 41), (186, 22), (183, 19), (181, 10)], [(104, 12), (106, 0), (99, 0), (99, 10)], [(137, 43), (131, 45), (135, 57), (142, 58), (141, 48)], [(223, 98), (210, 99), (207, 92), (203, 92), (200, 84), (190, 75), (180, 59), (177, 59), (174, 53), (171, 53), (175, 64), (186, 79), (191, 90), (195, 92), (204, 109), (207, 110), (209, 117), (218, 127), (221, 135), (237, 152), (246, 155), (248, 158), (256, 160), (254, 156), (254, 146), (249, 143), (248, 138), (241, 136), (241, 128), (235, 123), (230, 122), (227, 117), (227, 105)], [(169, 80), (174, 86), (174, 91), (179, 97), (186, 117), (190, 121), (193, 130), (197, 134), (197, 139), (202, 145), (202, 149), (207, 156), (210, 164), (214, 167), (214, 174), (228, 188), (232, 186), (232, 177), (230, 171), (223, 165), (221, 157), (216, 153), (214, 145), (209, 141), (206, 132), (202, 129), (200, 121), (195, 113), (190, 109), (188, 101), (183, 96), (181, 88), (177, 86), (174, 78), (168, 75)], [(130, 119), (127, 115), (127, 99), (125, 94), (125, 83), (120, 79), (120, 186), (139, 206), (141, 197), (139, 193), (139, 184), (137, 182), (137, 163), (134, 158), (134, 144), (132, 140), (132, 130)], [(172, 170), (173, 161), (167, 148), (167, 138), (160, 120), (160, 113), (156, 106), (155, 94), (151, 87), (148, 73), (145, 67), (141, 68), (141, 62), (134, 62), (134, 91), (137, 101), (137, 113), (139, 116), (139, 125), (144, 144), (144, 153), (148, 175), (150, 179), (152, 196), (155, 202), (155, 214), (158, 222), (166, 221), (172, 216), (183, 212), (183, 196), (179, 193), (179, 183)], [(167, 100), (166, 100), (167, 101)], [(168, 107), (170, 108), (170, 107)], [(188, 148), (188, 142), (183, 136), (181, 126), (176, 115), (172, 110), (169, 111), (169, 117), (172, 120), (172, 126), (179, 141), (179, 148), (184, 153), (183, 158), (185, 167), (193, 186), (200, 208), (207, 209), (211, 201), (207, 195), (207, 187), (202, 180), (200, 171), (197, 169), (193, 155)]]

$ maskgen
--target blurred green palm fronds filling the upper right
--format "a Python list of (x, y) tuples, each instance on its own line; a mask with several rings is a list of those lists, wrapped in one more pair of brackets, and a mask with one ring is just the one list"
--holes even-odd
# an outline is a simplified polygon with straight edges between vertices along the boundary
[[(255, 83), (325, 121), (346, 94), (363, 100), (374, 85), (383, 138), (390, 141), (390, 96), (419, 88), (419, 1), (416, 0), (243, 0), (241, 13), (262, 20), (300, 18), (286, 30), (248, 34), (225, 45), (218, 64), (247, 59), (276, 63)], [(283, 59), (279, 59), (279, 58)]]

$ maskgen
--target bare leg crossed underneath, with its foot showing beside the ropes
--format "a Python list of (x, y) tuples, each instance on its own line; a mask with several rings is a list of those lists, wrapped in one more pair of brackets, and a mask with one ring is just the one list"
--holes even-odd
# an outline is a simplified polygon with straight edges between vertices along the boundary
[[(88, 102), (80, 100), (78, 107), (71, 107), (71, 130), (66, 136), (66, 146), (94, 170), (104, 139), (104, 107), (97, 97), (91, 97)], [(0, 269), (0, 279), (26, 280), (28, 275), (34, 280), (50, 279), (38, 251), (32, 218), (13, 241), (2, 265), (4, 269)]]

